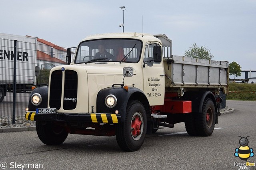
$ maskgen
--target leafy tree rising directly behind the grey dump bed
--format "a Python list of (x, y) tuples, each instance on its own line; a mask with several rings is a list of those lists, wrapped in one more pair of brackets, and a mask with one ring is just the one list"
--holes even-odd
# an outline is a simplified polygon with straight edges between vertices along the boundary
[(205, 45), (198, 47), (196, 43), (192, 44), (192, 47), (189, 47), (189, 50), (185, 51), (184, 56), (200, 59), (212, 59), (214, 57), (208, 47), (206, 48)]

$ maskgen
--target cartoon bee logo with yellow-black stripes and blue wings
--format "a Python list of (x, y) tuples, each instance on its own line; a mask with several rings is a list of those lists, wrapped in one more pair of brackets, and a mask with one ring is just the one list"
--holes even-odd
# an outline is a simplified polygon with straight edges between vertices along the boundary
[(236, 157), (239, 157), (241, 160), (248, 160), (248, 158), (254, 156), (254, 153), (253, 153), (253, 149), (252, 148), (249, 148), (248, 146), (248, 143), (249, 143), (249, 140), (247, 139), (249, 136), (247, 136), (246, 138), (245, 137), (240, 137), (240, 140), (239, 140), (239, 144), (240, 144), (240, 147), (239, 148), (236, 148), (236, 152), (234, 153), (234, 155)]

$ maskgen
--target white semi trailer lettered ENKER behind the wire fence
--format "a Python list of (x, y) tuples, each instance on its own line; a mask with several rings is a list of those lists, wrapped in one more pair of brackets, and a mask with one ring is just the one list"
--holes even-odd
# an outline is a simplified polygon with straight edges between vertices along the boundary
[(14, 40), (16, 43), (16, 92), (35, 84), (37, 38), (0, 33), (0, 102), (14, 87)]

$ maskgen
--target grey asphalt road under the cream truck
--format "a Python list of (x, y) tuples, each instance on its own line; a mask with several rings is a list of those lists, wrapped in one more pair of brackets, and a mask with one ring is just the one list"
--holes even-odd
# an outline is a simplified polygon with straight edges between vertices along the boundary
[[(189, 136), (184, 123), (179, 123), (148, 135), (136, 152), (120, 150), (115, 136), (69, 134), (63, 144), (47, 146), (36, 131), (0, 133), (0, 166), (15, 169), (18, 165), (41, 164), (41, 169), (47, 170), (238, 170), (235, 162), (245, 163), (234, 156), (240, 147), (238, 136), (250, 136), (248, 146), (256, 153), (256, 101), (227, 101), (227, 105), (236, 111), (219, 117), (212, 136)], [(256, 163), (256, 156), (248, 161)]]

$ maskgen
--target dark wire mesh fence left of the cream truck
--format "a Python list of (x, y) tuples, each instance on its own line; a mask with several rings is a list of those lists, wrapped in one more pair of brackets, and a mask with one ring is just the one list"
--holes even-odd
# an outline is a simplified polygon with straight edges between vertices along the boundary
[(64, 47), (0, 38), (0, 126), (32, 123), (25, 120), (32, 85), (48, 84), (50, 69), (64, 64)]

